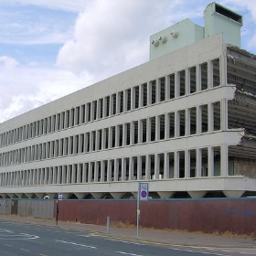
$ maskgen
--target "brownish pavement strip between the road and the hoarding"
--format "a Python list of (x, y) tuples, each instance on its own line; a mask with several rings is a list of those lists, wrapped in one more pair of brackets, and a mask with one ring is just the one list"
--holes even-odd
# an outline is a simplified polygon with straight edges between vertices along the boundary
[[(110, 225), (106, 226), (82, 224), (74, 222), (59, 221), (58, 226), (56, 220), (53, 219), (36, 219), (26, 218), (16, 215), (0, 215), (0, 219), (4, 221), (15, 221), (32, 225), (43, 225), (56, 227), (59, 229), (75, 229), (87, 231), (94, 236), (105, 236), (110, 238), (120, 238), (125, 240), (140, 240), (152, 242), (154, 244), (163, 244), (168, 246), (190, 246), (198, 248), (248, 248), (256, 250), (256, 237), (242, 237), (239, 235), (212, 235), (204, 233), (192, 233), (185, 231), (172, 231), (160, 229), (137, 229), (135, 228), (117, 228)], [(254, 254), (255, 255), (255, 254)]]

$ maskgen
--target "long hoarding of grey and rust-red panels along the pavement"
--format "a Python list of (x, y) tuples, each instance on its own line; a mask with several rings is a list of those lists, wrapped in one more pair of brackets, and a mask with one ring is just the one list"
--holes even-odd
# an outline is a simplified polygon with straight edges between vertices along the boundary
[[(42, 219), (56, 218), (53, 200), (2, 200), (8, 206), (1, 214), (15, 214)], [(59, 200), (59, 220), (105, 225), (136, 225), (137, 202), (129, 200)], [(255, 233), (256, 198), (203, 198), (141, 201), (140, 224), (155, 229), (187, 231)]]

